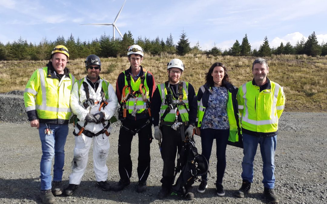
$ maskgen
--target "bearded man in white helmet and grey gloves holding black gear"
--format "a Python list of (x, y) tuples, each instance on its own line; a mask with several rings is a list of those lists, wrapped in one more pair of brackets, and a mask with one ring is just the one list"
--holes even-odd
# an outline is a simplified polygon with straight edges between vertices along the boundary
[[(162, 187), (158, 198), (167, 197), (174, 183), (176, 151), (183, 147), (185, 135), (192, 139), (197, 117), (197, 100), (193, 86), (180, 81), (184, 64), (180, 59), (172, 59), (167, 64), (168, 81), (157, 86), (151, 101), (154, 137), (161, 141), (163, 159)], [(159, 113), (161, 122), (159, 126)], [(194, 199), (190, 180), (185, 186), (185, 198)]]

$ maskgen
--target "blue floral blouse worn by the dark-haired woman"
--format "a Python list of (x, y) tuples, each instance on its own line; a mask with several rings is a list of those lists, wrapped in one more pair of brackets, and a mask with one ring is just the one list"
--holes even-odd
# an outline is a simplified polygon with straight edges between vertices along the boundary
[(205, 109), (201, 129), (229, 129), (227, 116), (228, 91), (224, 86), (211, 87), (208, 105)]

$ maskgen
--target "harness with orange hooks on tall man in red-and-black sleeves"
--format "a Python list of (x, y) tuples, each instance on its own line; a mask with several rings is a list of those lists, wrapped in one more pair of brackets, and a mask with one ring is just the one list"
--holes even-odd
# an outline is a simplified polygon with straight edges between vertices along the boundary
[[(145, 109), (145, 113), (149, 114), (149, 116), (151, 117), (151, 109), (150, 109), (150, 102), (146, 99), (146, 88), (144, 86), (144, 81), (145, 81), (145, 73), (146, 71), (143, 71), (143, 75), (140, 76), (141, 78), (141, 84), (139, 86), (139, 90), (134, 91), (132, 86), (131, 86), (131, 78), (130, 78), (130, 73), (129, 71), (125, 72), (125, 76), (126, 76), (126, 81), (127, 81), (127, 85), (123, 87), (122, 90), (122, 102), (120, 104), (120, 110), (119, 110), (119, 119), (120, 120), (124, 120), (127, 117), (127, 105), (126, 102), (129, 101), (130, 98), (137, 98), (138, 95), (142, 96), (142, 99), (144, 101), (144, 103), (146, 104), (146, 109)], [(126, 94), (126, 88), (128, 89), (128, 94)], [(145, 90), (145, 93), (143, 92), (143, 88)], [(132, 116), (135, 116), (137, 111), (139, 111), (140, 109), (136, 108), (136, 102), (134, 103), (134, 110), (131, 113)]]

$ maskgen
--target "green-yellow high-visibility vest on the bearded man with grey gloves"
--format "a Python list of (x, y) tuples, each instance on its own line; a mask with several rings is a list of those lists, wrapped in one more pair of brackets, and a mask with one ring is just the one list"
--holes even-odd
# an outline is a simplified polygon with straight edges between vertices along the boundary
[[(179, 105), (179, 104), (177, 104), (177, 103), (180, 102), (180, 99), (176, 99), (173, 96), (173, 94), (172, 94), (173, 106), (175, 107), (175, 104), (177, 104), (177, 109), (179, 111), (179, 114), (181, 116), (182, 121), (183, 122), (187, 122), (187, 121), (189, 121), (188, 111), (190, 110), (189, 109), (189, 102), (188, 102), (188, 82), (182, 82), (182, 83), (183, 83), (183, 89), (182, 89), (183, 90), (183, 98), (182, 98), (182, 102), (184, 102), (185, 105)], [(168, 107), (168, 105), (166, 103), (167, 89), (166, 89), (165, 83), (158, 85), (158, 89), (159, 89), (160, 96), (161, 96), (160, 115), (163, 116), (166, 108)], [(163, 118), (163, 121), (165, 121), (165, 122), (175, 122), (175, 120), (176, 120), (176, 111), (175, 111), (175, 108), (173, 108), (165, 116), (165, 118)]]

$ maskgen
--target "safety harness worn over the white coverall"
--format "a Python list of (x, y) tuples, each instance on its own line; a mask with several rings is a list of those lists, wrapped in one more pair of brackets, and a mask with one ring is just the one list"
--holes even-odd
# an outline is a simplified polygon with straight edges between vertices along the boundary
[[(106, 87), (108, 87), (107, 81), (104, 81), (104, 82), (106, 84)], [(84, 79), (78, 80), (78, 99), (79, 99), (79, 95), (80, 95), (79, 90), (80, 90), (81, 85), (83, 85), (85, 95), (86, 95), (86, 101), (83, 102), (83, 106), (84, 106), (85, 109), (87, 109), (90, 106), (90, 110), (91, 110), (91, 108), (95, 104), (98, 104), (99, 102), (94, 102), (93, 99), (90, 99), (89, 85), (84, 81)], [(107, 93), (108, 93), (108, 91), (107, 91)], [(102, 96), (101, 97), (102, 101), (100, 102), (99, 111), (101, 110), (101, 108), (105, 108), (106, 105), (108, 105), (108, 102), (105, 101), (104, 98), (107, 100), (109, 98), (109, 96), (108, 96), (108, 94), (105, 94), (105, 92), (103, 90), (103, 86), (101, 87), (101, 96)], [(85, 126), (87, 125), (87, 123), (88, 123), (88, 121), (85, 120), (85, 123), (84, 123), (83, 127), (81, 127), (77, 122), (76, 123), (74, 122), (74, 127), (76, 125), (79, 132), (75, 133), (75, 131), (73, 131), (73, 134), (75, 136), (78, 136), (78, 135), (83, 133), (88, 137), (98, 136), (98, 135), (103, 134), (103, 133), (105, 133), (107, 136), (110, 135), (110, 133), (108, 133), (108, 131), (107, 131), (109, 126), (110, 126), (110, 120), (108, 120), (108, 124), (105, 125), (105, 119), (102, 119), (101, 123), (103, 125), (103, 129), (101, 131), (97, 132), (97, 133), (92, 133), (91, 131), (85, 130)]]

